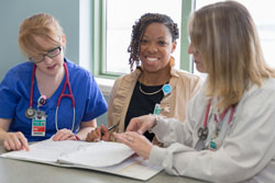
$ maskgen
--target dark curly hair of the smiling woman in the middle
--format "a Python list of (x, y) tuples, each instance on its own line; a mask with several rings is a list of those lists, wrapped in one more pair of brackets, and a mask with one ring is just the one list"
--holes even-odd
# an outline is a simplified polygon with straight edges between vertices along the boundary
[(166, 14), (160, 13), (145, 13), (143, 14), (132, 27), (132, 37), (128, 53), (130, 53), (129, 65), (131, 71), (133, 71), (133, 65), (140, 66), (140, 41), (144, 34), (145, 28), (151, 23), (164, 24), (170, 32), (172, 41), (176, 41), (179, 37), (177, 24)]

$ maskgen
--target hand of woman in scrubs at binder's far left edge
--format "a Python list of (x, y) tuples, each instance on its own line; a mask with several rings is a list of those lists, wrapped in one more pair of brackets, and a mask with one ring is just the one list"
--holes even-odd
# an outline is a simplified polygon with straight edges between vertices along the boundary
[(3, 138), (3, 146), (7, 150), (30, 150), (28, 139), (21, 131), (7, 133)]

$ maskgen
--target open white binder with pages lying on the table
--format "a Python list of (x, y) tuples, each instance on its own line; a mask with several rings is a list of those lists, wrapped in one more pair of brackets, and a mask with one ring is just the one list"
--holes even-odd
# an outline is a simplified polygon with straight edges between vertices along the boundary
[(30, 151), (19, 150), (0, 157), (41, 162), (66, 168), (80, 168), (147, 181), (163, 170), (134, 156), (134, 151), (119, 142), (87, 142), (52, 139), (30, 145)]

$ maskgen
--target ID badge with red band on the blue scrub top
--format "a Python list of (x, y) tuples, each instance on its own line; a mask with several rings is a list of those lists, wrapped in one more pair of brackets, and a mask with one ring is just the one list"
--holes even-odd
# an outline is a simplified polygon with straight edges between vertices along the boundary
[(32, 119), (32, 136), (45, 136), (46, 133), (46, 114), (43, 111), (35, 111)]

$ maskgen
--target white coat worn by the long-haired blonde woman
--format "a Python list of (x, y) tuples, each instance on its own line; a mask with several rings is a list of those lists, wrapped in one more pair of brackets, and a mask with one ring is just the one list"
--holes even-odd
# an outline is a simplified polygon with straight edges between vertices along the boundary
[[(189, 102), (185, 123), (160, 118), (152, 131), (167, 148), (154, 146), (150, 162), (163, 165), (170, 174), (210, 182), (275, 182), (275, 79), (246, 91), (230, 124), (228, 112), (219, 136), (221, 146), (216, 151), (195, 149), (208, 104), (204, 93), (205, 87)], [(205, 145), (217, 125), (213, 113), (210, 110)]]

